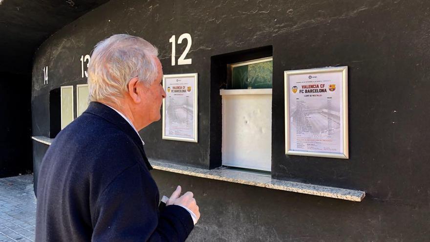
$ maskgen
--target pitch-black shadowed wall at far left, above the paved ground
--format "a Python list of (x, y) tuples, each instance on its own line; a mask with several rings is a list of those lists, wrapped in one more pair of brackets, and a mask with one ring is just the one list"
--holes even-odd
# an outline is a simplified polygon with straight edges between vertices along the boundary
[(0, 72), (0, 177), (31, 173), (31, 75)]

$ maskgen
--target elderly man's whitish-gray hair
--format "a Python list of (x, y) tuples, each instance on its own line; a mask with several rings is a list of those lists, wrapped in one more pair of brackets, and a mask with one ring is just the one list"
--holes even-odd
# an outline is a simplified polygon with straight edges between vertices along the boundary
[(158, 50), (148, 41), (117, 34), (96, 44), (88, 66), (89, 101), (116, 102), (128, 91), (131, 78), (151, 85), (158, 72)]

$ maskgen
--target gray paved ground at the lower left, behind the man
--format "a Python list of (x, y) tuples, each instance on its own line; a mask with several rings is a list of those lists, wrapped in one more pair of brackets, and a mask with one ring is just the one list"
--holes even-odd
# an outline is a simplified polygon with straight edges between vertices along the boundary
[(0, 242), (34, 241), (36, 198), (33, 176), (0, 179)]

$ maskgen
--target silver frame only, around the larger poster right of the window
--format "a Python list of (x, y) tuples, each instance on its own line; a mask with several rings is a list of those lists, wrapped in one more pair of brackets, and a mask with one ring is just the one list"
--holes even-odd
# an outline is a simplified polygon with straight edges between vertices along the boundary
[[(320, 73), (342, 73), (342, 100), (343, 102), (343, 130), (341, 135), (343, 136), (343, 153), (327, 153), (327, 152), (309, 152), (309, 151), (293, 151), (291, 150), (290, 140), (290, 76), (299, 74), (320, 74)], [(285, 94), (285, 154), (287, 155), (304, 155), (304, 156), (316, 156), (316, 157), (329, 157), (329, 158), (341, 158), (349, 159), (349, 141), (348, 141), (348, 66), (336, 66), (336, 67), (323, 67), (323, 68), (312, 68), (312, 69), (301, 69), (301, 70), (286, 70), (284, 71), (284, 94)]]

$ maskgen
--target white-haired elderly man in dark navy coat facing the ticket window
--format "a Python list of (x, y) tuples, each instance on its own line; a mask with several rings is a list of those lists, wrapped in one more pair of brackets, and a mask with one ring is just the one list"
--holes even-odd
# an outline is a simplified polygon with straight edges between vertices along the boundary
[(185, 241), (200, 217), (193, 193), (159, 194), (138, 134), (160, 119), (166, 93), (157, 49), (129, 35), (96, 45), (91, 103), (46, 152), (38, 181), (36, 241)]

